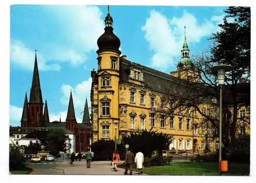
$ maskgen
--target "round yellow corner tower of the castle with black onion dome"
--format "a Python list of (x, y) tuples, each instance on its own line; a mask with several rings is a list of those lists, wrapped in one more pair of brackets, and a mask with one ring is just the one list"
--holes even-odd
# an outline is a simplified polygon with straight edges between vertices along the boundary
[[(113, 33), (113, 18), (108, 14), (105, 17), (105, 32), (98, 38), (98, 101), (92, 106), (98, 105), (98, 119), (94, 130), (94, 138), (99, 139), (103, 128), (114, 129), (114, 122), (119, 122), (119, 68), (120, 68), (120, 39)], [(92, 72), (92, 75), (96, 76)], [(94, 83), (93, 83), (94, 84)], [(95, 84), (94, 84), (95, 85)], [(115, 120), (115, 121), (114, 121)], [(96, 124), (93, 124), (96, 127)], [(118, 131), (117, 131), (118, 132)], [(111, 139), (114, 132), (111, 131)]]

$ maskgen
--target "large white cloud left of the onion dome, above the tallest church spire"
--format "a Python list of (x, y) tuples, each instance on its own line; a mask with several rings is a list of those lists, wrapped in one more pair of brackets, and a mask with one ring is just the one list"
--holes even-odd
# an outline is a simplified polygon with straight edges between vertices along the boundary
[[(40, 22), (37, 37), (40, 34), (50, 34), (40, 45), (33, 45), (38, 50), (38, 66), (42, 70), (59, 70), (60, 63), (70, 62), (78, 65), (87, 60), (87, 53), (96, 51), (97, 38), (104, 32), (102, 13), (96, 6), (46, 6), (42, 8), (51, 16), (53, 27), (48, 23)], [(44, 14), (41, 14), (44, 16)], [(58, 31), (56, 31), (58, 30)], [(40, 32), (41, 31), (41, 32)], [(32, 36), (32, 35), (31, 35)], [(45, 37), (45, 36), (44, 36)], [(56, 37), (56, 39), (52, 39)], [(33, 69), (34, 50), (29, 48), (27, 41), (11, 38), (11, 62), (29, 70)]]

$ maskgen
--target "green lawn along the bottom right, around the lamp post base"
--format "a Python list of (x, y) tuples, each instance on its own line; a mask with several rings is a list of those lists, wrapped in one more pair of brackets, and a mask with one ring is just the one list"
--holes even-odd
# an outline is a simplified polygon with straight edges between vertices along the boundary
[[(121, 166), (120, 166), (121, 167)], [(122, 166), (123, 168), (123, 166)], [(136, 169), (135, 169), (136, 171)], [(219, 175), (219, 164), (215, 162), (180, 162), (165, 166), (145, 167), (143, 173), (148, 175)], [(249, 164), (229, 163), (228, 172), (223, 175), (249, 175)]]

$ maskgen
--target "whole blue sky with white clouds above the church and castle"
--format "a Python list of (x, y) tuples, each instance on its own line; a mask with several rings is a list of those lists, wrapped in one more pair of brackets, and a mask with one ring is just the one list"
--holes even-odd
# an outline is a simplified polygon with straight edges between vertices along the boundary
[[(180, 59), (184, 26), (190, 54), (209, 46), (226, 7), (110, 6), (121, 52), (133, 62), (165, 73)], [(76, 118), (87, 99), (91, 70), (97, 69), (97, 39), (107, 6), (13, 5), (10, 7), (10, 125), (20, 125), (32, 82), (35, 50), (42, 98), (50, 121), (66, 120), (70, 89)]]

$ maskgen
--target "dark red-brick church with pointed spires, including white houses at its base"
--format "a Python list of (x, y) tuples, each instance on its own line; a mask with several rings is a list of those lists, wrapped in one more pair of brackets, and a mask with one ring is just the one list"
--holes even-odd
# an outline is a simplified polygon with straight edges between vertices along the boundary
[(30, 133), (36, 134), (36, 131), (39, 133), (39, 131), (49, 131), (56, 128), (62, 128), (66, 130), (67, 135), (69, 135), (69, 144), (71, 144), (72, 152), (86, 151), (87, 148), (90, 147), (91, 122), (87, 99), (84, 105), (82, 123), (77, 123), (76, 121), (72, 91), (70, 91), (66, 121), (62, 122), (61, 119), (59, 119), (59, 121), (50, 122), (47, 100), (45, 103), (42, 102), (36, 53), (30, 98), (28, 101), (26, 93), (20, 123), (20, 127), (10, 126), (10, 141), (12, 139), (16, 145), (24, 145), (28, 144), (27, 142), (30, 141), (37, 141), (36, 136), (32, 138), (33, 140), (28, 140)]

